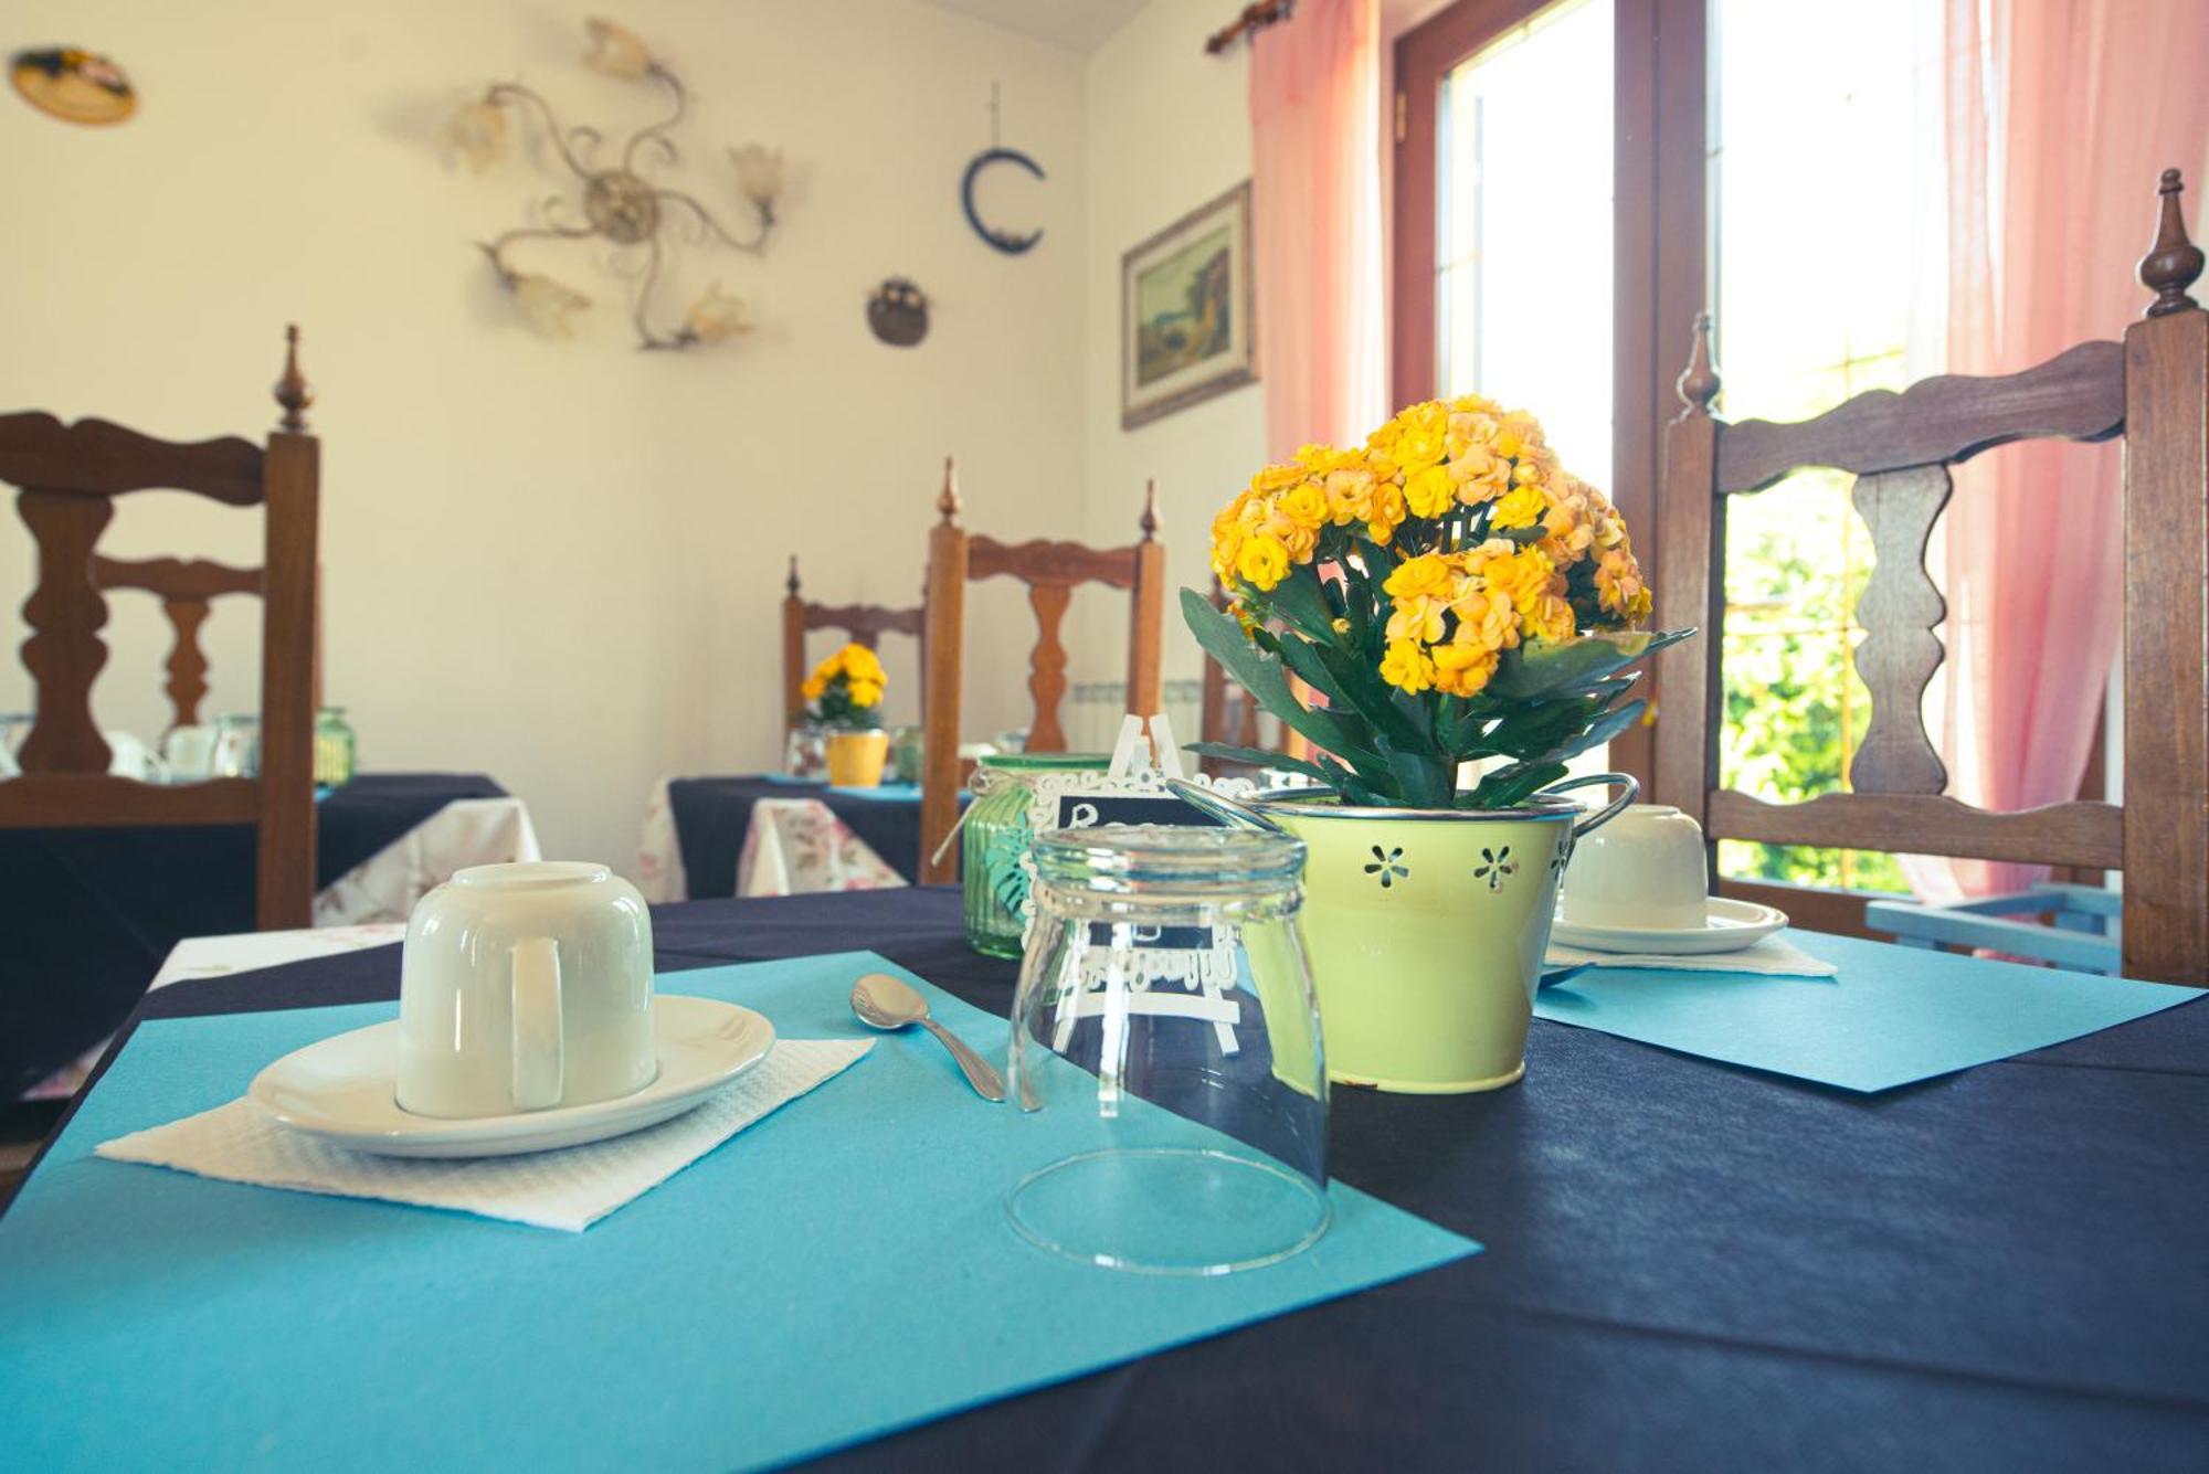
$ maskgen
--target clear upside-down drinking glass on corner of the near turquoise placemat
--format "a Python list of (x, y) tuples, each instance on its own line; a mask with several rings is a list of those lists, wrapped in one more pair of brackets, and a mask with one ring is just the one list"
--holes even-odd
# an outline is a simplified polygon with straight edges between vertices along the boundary
[(1303, 845), (1102, 825), (1036, 841), (1007, 1090), (1023, 1238), (1085, 1264), (1222, 1275), (1328, 1229), (1328, 1066)]

